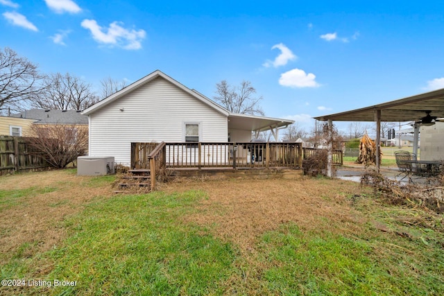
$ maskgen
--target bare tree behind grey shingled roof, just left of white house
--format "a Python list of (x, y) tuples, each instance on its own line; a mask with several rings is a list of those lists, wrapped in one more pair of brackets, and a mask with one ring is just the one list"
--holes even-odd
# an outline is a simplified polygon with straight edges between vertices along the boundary
[(84, 110), (98, 101), (91, 85), (66, 73), (51, 74), (46, 78), (46, 89), (33, 98), (33, 105), (43, 109)]

